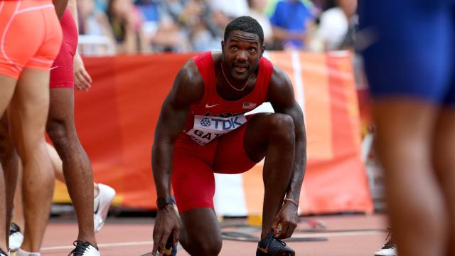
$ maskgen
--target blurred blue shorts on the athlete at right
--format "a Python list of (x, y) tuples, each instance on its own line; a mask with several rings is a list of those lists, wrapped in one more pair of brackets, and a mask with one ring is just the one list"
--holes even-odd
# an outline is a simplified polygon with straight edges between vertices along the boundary
[(360, 1), (358, 43), (373, 97), (444, 101), (454, 50), (451, 9), (446, 0)]

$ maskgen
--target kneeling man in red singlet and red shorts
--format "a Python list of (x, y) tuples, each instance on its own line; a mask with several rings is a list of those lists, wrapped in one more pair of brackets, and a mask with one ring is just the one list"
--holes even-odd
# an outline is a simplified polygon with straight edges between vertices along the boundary
[[(218, 255), (222, 240), (213, 210), (213, 174), (248, 171), (264, 156), (256, 255), (295, 255), (279, 239), (291, 237), (297, 225), (306, 166), (304, 117), (287, 75), (262, 57), (263, 40), (254, 18), (235, 18), (225, 29), (221, 53), (200, 54), (178, 73), (153, 146), (159, 210), (152, 255), (158, 250), (175, 255), (175, 246), (166, 245), (172, 237), (191, 255)], [(271, 102), (275, 113), (244, 115), (262, 102)], [(171, 179), (182, 229), (173, 212)]]

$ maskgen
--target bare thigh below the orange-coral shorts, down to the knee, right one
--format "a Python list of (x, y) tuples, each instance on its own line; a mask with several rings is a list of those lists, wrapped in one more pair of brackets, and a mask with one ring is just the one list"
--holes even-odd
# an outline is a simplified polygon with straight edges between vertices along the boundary
[(19, 152), (44, 141), (49, 109), (49, 72), (25, 68), (9, 106), (11, 135)]

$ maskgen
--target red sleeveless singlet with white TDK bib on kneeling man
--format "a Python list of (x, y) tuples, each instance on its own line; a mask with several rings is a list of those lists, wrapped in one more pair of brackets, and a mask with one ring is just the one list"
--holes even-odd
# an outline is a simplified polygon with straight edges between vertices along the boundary
[(259, 61), (259, 73), (254, 89), (240, 100), (223, 100), (216, 90), (215, 67), (211, 52), (193, 58), (204, 80), (203, 98), (191, 105), (183, 133), (194, 142), (205, 145), (247, 122), (246, 112), (267, 100), (273, 65), (266, 58)]

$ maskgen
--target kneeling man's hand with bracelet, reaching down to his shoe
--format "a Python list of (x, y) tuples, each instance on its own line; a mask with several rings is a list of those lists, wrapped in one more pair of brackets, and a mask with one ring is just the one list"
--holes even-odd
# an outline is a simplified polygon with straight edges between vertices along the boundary
[[(272, 224), (275, 238), (285, 239), (291, 237), (297, 227), (297, 220), (299, 219), (297, 210), (297, 206), (289, 202), (285, 202), (282, 208), (279, 209), (277, 217), (275, 217), (274, 223)], [(279, 224), (282, 226), (280, 230), (278, 228)]]

